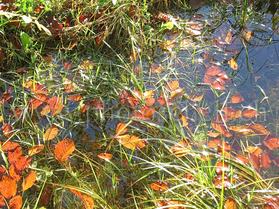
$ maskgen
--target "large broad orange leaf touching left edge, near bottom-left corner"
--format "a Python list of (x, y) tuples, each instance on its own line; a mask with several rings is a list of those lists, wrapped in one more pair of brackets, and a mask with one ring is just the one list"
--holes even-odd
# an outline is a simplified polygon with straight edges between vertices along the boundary
[(11, 196), (15, 196), (17, 190), (17, 184), (15, 179), (11, 176), (3, 176), (0, 180), (0, 192), (1, 194), (9, 199)]

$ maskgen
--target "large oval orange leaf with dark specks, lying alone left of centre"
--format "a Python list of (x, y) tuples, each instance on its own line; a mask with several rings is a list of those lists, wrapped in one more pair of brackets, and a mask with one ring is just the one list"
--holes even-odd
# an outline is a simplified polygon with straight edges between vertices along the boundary
[(58, 162), (63, 162), (66, 160), (74, 151), (74, 142), (69, 138), (62, 140), (57, 143), (54, 148), (54, 156)]

